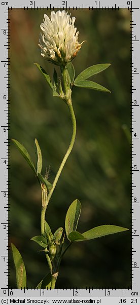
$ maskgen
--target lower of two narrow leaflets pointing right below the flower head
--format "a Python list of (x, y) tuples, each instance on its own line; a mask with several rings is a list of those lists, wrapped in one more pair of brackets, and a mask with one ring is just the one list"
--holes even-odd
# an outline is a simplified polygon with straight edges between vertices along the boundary
[(87, 88), (87, 89), (94, 89), (98, 91), (104, 91), (104, 92), (111, 92), (109, 89), (94, 83), (92, 81), (77, 81), (76, 83), (74, 82), (74, 85), (76, 87), (82, 87), (82, 88)]

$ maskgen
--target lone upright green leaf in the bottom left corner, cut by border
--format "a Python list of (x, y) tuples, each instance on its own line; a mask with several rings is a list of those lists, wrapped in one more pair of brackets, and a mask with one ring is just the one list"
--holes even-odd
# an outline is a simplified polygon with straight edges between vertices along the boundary
[(12, 253), (14, 258), (14, 264), (16, 268), (17, 287), (19, 289), (26, 288), (26, 270), (22, 256), (20, 255), (18, 249), (15, 247), (14, 244), (11, 244), (11, 246), (12, 246)]

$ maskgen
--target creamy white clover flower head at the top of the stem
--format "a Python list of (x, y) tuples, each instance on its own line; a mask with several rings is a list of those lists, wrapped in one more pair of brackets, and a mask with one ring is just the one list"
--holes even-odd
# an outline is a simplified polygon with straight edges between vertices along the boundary
[(65, 65), (71, 61), (81, 49), (83, 42), (78, 42), (77, 28), (74, 26), (75, 17), (65, 11), (51, 12), (51, 20), (45, 14), (41, 24), (43, 34), (40, 35), (39, 47), (41, 55), (57, 64)]

